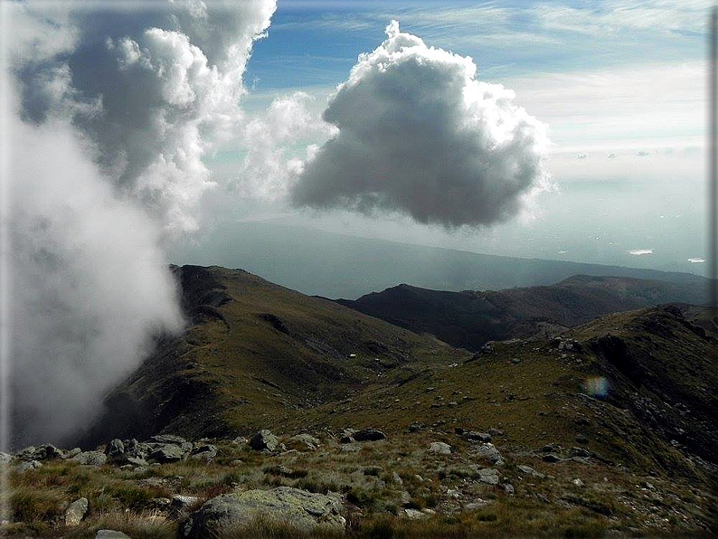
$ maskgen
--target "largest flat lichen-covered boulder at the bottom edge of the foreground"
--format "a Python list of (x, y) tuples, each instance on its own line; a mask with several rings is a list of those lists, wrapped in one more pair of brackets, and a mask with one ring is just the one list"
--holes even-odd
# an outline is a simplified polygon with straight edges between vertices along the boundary
[(337, 495), (323, 495), (293, 487), (224, 494), (205, 502), (189, 516), (183, 534), (190, 539), (213, 537), (221, 530), (248, 525), (260, 516), (311, 532), (317, 525), (343, 532), (346, 521)]

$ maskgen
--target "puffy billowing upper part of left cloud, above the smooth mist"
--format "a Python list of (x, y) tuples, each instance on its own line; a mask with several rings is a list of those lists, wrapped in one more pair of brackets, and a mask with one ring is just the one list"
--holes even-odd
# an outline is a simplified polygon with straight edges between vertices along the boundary
[(96, 109), (73, 121), (105, 175), (166, 227), (194, 230), (194, 206), (212, 185), (202, 157), (240, 128), (242, 74), (274, 0), (59, 4), (51, 14), (76, 46), (20, 67), (24, 118), (42, 123), (67, 78), (75, 107)]

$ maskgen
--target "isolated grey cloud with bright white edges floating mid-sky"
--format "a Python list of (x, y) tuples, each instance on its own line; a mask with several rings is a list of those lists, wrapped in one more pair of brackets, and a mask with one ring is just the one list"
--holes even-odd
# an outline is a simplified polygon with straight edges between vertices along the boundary
[(546, 187), (545, 126), (468, 57), (392, 21), (324, 118), (339, 129), (293, 185), (299, 206), (405, 213), (447, 228), (500, 222)]

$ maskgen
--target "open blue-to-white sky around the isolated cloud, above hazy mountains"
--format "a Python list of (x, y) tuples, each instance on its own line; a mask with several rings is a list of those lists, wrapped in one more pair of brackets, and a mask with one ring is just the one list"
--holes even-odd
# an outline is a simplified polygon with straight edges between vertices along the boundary
[[(704, 236), (704, 52), (709, 3), (279, 1), (251, 53), (244, 107), (308, 95), (318, 115), (391, 19), (434, 47), (470, 56), (477, 79), (515, 91), (549, 128), (553, 190), (530, 213), (445, 230), (402, 214), (298, 210), (277, 201), (207, 202), (209, 217), (271, 221), (467, 251), (701, 273)], [(326, 137), (292, 141), (297, 155)], [(246, 151), (206, 158), (240, 175)], [(209, 194), (225, 198), (226, 194)], [(233, 196), (233, 195), (232, 195)], [(206, 202), (206, 201), (205, 201)], [(210, 225), (211, 226), (211, 225)]]

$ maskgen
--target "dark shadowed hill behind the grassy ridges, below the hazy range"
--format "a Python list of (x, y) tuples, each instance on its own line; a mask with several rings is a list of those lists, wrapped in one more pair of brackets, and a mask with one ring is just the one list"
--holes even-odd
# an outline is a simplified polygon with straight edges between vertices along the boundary
[(446, 292), (399, 285), (354, 301), (337, 301), (476, 351), (488, 341), (558, 333), (609, 313), (675, 302), (700, 305), (705, 292), (706, 288), (688, 283), (581, 275), (551, 286), (496, 292)]

